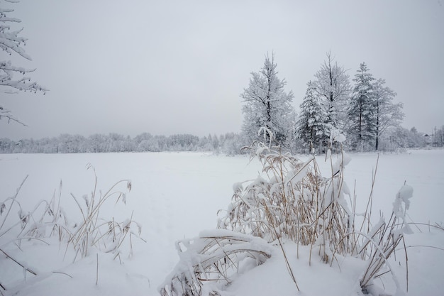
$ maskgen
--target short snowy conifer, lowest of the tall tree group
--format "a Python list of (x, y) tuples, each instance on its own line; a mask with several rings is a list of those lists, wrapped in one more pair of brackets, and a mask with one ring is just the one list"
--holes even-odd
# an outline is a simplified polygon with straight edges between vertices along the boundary
[(316, 93), (313, 82), (307, 83), (304, 100), (300, 105), (298, 121), (296, 122), (296, 135), (310, 151), (321, 146), (328, 127), (326, 126), (327, 113), (323, 109), (321, 97)]

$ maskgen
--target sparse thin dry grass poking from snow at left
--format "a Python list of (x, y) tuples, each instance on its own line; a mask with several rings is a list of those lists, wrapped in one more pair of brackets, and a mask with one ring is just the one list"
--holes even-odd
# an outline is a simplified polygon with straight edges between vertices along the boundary
[[(74, 250), (72, 262), (79, 258), (85, 258), (98, 252), (113, 253), (113, 258), (121, 262), (122, 254), (133, 254), (132, 239), (140, 239), (141, 226), (129, 219), (118, 222), (114, 219), (103, 219), (101, 208), (106, 202), (114, 200), (126, 203), (126, 193), (131, 190), (129, 180), (116, 182), (106, 192), (97, 190), (97, 177), (94, 172), (94, 189), (91, 194), (84, 195), (83, 199), (77, 199), (73, 194), (82, 219), (70, 221), (61, 206), (62, 182), (58, 194), (53, 194), (52, 199), (41, 200), (30, 211), (26, 212), (18, 197), (21, 187), (26, 182), (26, 177), (12, 197), (6, 198), (0, 203), (0, 253), (6, 256), (14, 264), (23, 268), (23, 278), (26, 274), (38, 275), (40, 268), (30, 267), (21, 256), (11, 255), (12, 250), (21, 250), (23, 242), (38, 241), (50, 245), (57, 238), (61, 248)], [(72, 254), (72, 252), (69, 252)], [(23, 257), (26, 257), (23, 254)], [(6, 283), (0, 278), (0, 292), (6, 290)]]

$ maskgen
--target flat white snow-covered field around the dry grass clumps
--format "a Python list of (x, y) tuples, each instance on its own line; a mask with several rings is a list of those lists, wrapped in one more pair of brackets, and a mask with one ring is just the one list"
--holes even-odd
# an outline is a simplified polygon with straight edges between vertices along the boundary
[[(406, 182), (414, 188), (409, 221), (443, 226), (444, 150), (381, 154), (378, 163), (374, 153), (352, 154), (351, 158), (345, 167), (345, 181), (355, 192), (358, 207), (365, 207), (377, 167), (374, 219), (379, 219), (379, 209), (384, 216), (391, 214), (396, 192)], [(328, 175), (330, 164), (322, 156), (318, 156), (318, 163)], [(142, 225), (141, 238), (146, 242), (133, 238), (133, 256), (122, 255), (122, 264), (104, 252), (72, 263), (74, 252), (55, 236), (44, 241), (22, 241), (21, 249), (9, 235), (0, 236), (0, 248), (38, 274), (24, 273), (23, 268), (0, 253), (0, 284), (7, 289), (0, 287), (0, 292), (4, 295), (158, 295), (157, 288), (179, 260), (174, 242), (215, 229), (216, 213), (231, 202), (233, 184), (253, 179), (261, 170), (257, 160), (250, 163), (244, 156), (209, 153), (0, 155), (0, 202), (13, 196), (28, 175), (16, 199), (23, 212), (30, 212), (41, 199), (58, 196), (62, 180), (62, 207), (71, 223), (81, 221), (71, 194), (81, 199), (94, 190), (94, 170), (87, 170), (89, 164), (95, 169), (97, 189), (102, 192), (119, 180), (131, 180), (126, 204), (115, 204), (113, 199), (104, 205), (101, 214), (116, 221), (132, 215)], [(124, 190), (126, 186), (118, 188)], [(5, 214), (0, 216), (0, 223)], [(17, 211), (11, 212), (11, 221), (6, 221), (4, 229), (12, 223), (12, 217), (16, 219)], [(405, 237), (406, 246), (410, 246), (407, 295), (443, 295), (444, 231), (429, 226), (411, 227), (415, 233)], [(286, 251), (301, 288), (299, 294), (279, 251), (265, 264), (240, 275), (228, 287), (227, 295), (360, 295), (361, 263), (344, 261), (339, 270), (316, 259), (309, 266), (304, 248), (299, 251), (299, 259), (291, 244)], [(396, 253), (396, 260), (391, 259), (392, 268), (406, 290), (404, 249)], [(394, 294), (391, 279), (384, 275), (375, 283)]]

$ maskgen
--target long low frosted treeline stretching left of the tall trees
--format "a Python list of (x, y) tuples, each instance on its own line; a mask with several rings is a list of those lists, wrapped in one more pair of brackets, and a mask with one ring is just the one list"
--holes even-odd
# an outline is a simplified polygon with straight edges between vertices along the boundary
[(238, 154), (243, 141), (238, 133), (204, 137), (190, 134), (152, 136), (142, 133), (134, 138), (117, 133), (89, 137), (62, 134), (54, 138), (12, 141), (0, 138), (0, 153), (110, 153), (160, 151), (211, 151)]

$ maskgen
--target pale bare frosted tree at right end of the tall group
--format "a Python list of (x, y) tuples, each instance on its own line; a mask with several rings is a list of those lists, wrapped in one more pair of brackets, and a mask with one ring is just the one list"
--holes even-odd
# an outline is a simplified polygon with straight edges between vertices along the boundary
[(399, 126), (404, 113), (402, 112), (402, 103), (394, 104), (392, 101), (396, 96), (389, 87), (385, 87), (385, 80), (378, 79), (373, 84), (374, 96), (374, 116), (375, 116), (375, 149), (378, 150), (379, 139), (382, 133), (390, 127)]

